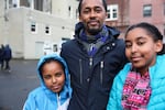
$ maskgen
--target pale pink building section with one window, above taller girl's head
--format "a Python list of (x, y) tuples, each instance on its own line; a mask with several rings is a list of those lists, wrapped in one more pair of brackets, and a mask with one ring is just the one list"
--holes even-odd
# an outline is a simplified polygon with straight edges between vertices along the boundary
[(139, 22), (154, 24), (164, 35), (165, 0), (130, 0), (130, 25)]

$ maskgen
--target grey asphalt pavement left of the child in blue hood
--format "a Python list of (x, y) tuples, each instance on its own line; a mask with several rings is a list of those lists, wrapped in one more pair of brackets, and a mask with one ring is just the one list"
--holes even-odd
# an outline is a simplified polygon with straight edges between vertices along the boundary
[(12, 59), (11, 72), (0, 70), (0, 110), (22, 110), (29, 92), (40, 86), (37, 61)]

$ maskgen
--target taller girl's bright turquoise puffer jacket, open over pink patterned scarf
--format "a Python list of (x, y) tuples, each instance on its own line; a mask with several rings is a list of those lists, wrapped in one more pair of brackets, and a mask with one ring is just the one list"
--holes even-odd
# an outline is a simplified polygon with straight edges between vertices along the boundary
[[(114, 78), (107, 110), (123, 110), (121, 106), (121, 97), (123, 85), (130, 68), (131, 64), (129, 63)], [(155, 65), (150, 67), (148, 73), (152, 94), (147, 105), (147, 110), (165, 110), (165, 55), (157, 56)]]

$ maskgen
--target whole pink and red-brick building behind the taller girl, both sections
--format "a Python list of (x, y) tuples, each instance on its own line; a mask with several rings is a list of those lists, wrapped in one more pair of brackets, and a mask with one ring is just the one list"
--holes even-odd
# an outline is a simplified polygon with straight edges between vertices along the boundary
[(107, 0), (107, 3), (110, 13), (107, 24), (119, 29), (121, 37), (128, 26), (139, 22), (154, 24), (165, 37), (165, 0)]

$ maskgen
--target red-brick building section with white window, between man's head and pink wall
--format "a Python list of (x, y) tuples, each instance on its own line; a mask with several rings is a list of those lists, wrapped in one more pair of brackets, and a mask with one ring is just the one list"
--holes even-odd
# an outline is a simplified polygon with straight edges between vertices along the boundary
[(125, 29), (130, 25), (130, 0), (107, 0), (108, 16), (106, 23), (120, 30), (123, 37)]

